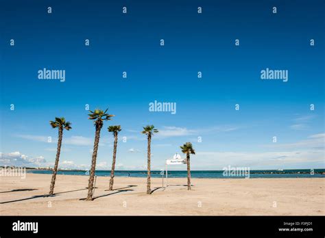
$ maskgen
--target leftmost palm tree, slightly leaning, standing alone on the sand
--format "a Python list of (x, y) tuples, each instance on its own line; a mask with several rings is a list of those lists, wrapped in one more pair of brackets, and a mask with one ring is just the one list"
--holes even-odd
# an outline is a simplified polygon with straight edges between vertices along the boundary
[(71, 122), (66, 122), (65, 118), (56, 118), (56, 120), (50, 120), (49, 124), (51, 124), (52, 128), (58, 128), (59, 131), (58, 148), (56, 150), (56, 163), (54, 164), (51, 186), (49, 187), (49, 196), (52, 196), (54, 191), (54, 185), (56, 183), (56, 173), (58, 172), (63, 130), (66, 129), (67, 131), (69, 131), (70, 129), (72, 129), (72, 127)]

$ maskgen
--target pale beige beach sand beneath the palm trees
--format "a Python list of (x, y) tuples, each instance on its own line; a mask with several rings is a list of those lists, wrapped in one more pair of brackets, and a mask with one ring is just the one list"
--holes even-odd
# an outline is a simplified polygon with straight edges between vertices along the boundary
[(1, 215), (325, 215), (325, 178), (147, 178), (97, 177), (95, 200), (85, 201), (88, 176), (58, 175), (56, 196), (49, 174), (0, 177)]

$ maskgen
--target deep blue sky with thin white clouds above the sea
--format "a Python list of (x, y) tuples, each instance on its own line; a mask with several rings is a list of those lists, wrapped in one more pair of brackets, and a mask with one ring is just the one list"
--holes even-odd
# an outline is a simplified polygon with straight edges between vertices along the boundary
[[(324, 1), (0, 4), (2, 165), (51, 166), (58, 132), (49, 120), (64, 116), (73, 129), (64, 131), (60, 166), (88, 168), (88, 104), (116, 115), (101, 132), (98, 169), (110, 168), (113, 124), (127, 139), (118, 145), (121, 170), (146, 168), (146, 124), (160, 131), (157, 170), (185, 142), (197, 151), (193, 170), (325, 167)], [(43, 68), (65, 70), (66, 80), (39, 80)], [(288, 81), (261, 80), (265, 68), (288, 70)], [(155, 100), (176, 103), (176, 114), (149, 111)]]

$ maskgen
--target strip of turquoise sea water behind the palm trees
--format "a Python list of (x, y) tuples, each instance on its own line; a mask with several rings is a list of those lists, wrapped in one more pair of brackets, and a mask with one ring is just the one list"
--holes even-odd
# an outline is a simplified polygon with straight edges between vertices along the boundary
[[(315, 169), (314, 174), (311, 174), (311, 170), (251, 170), (250, 178), (325, 178), (325, 169)], [(27, 170), (29, 173), (34, 174), (51, 174), (51, 170)], [(245, 176), (224, 176), (223, 170), (193, 170), (191, 171), (192, 178), (245, 178)], [(84, 175), (88, 176), (86, 171), (58, 171), (58, 174), (66, 175)], [(110, 171), (108, 170), (96, 170), (97, 176), (110, 176)], [(123, 177), (143, 177), (147, 176), (147, 171), (145, 170), (115, 170), (115, 176)], [(163, 175), (160, 171), (152, 171), (153, 178), (161, 178)], [(185, 178), (187, 176), (187, 171), (176, 171), (169, 170), (169, 178)]]

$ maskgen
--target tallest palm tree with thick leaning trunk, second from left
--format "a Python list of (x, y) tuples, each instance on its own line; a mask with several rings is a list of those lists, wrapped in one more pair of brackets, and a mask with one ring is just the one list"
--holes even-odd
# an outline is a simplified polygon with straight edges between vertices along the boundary
[(90, 111), (91, 113), (88, 114), (90, 120), (94, 120), (94, 125), (96, 128), (95, 132), (95, 142), (94, 142), (94, 148), (93, 148), (93, 158), (91, 160), (91, 174), (89, 176), (89, 183), (88, 183), (88, 196), (86, 200), (93, 200), (93, 187), (94, 187), (94, 177), (95, 177), (95, 168), (96, 168), (96, 159), (97, 159), (97, 150), (98, 150), (98, 144), (99, 144), (99, 137), (100, 137), (100, 131), (103, 127), (104, 120), (110, 120), (114, 115), (106, 114), (108, 109), (106, 111), (103, 111), (101, 109), (95, 109), (95, 111)]

